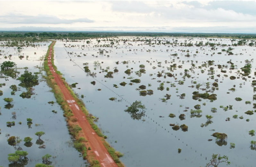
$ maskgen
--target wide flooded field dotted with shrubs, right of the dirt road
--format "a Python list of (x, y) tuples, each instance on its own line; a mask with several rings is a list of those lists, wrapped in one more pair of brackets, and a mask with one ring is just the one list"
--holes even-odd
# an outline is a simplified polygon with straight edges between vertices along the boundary
[[(131, 167), (205, 166), (212, 154), (228, 156), (232, 166), (254, 166), (254, 55), (254, 40), (223, 38), (55, 44), (58, 70)], [(129, 112), (135, 101), (146, 109)]]

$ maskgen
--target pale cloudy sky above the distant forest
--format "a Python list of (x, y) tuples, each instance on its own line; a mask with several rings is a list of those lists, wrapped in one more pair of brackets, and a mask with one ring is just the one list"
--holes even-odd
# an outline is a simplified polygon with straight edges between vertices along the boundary
[(0, 1), (0, 30), (256, 33), (256, 1)]

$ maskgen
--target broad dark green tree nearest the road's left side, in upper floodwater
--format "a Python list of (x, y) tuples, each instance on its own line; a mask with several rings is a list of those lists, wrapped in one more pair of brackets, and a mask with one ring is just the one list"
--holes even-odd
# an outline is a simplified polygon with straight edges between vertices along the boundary
[(21, 74), (18, 80), (21, 81), (21, 83), (19, 84), (19, 86), (21, 87), (33, 87), (39, 84), (37, 74), (33, 75), (31, 72), (28, 72), (27, 70), (25, 70), (24, 73)]

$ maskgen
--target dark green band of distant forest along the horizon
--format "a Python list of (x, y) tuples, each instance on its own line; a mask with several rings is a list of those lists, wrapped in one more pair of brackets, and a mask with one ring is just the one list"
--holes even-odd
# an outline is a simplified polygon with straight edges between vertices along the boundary
[(29, 31), (0, 31), (0, 38), (95, 38), (115, 36), (149, 36), (149, 37), (224, 37), (224, 38), (256, 38), (256, 34), (226, 34), (226, 33), (150, 33), (150, 32), (29, 32)]

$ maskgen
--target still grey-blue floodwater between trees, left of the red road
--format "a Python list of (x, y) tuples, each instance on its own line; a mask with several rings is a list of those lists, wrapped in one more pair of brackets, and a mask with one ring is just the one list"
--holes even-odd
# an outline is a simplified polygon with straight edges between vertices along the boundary
[[(0, 62), (13, 61), (17, 64), (17, 71), (20, 72), (18, 77), (24, 72), (24, 67), (28, 67), (29, 72), (42, 72), (38, 67), (42, 67), (43, 59), (45, 56), (48, 45), (50, 42), (39, 42), (36, 47), (22, 47), (18, 52), (17, 47), (1, 47)], [(36, 53), (34, 53), (36, 52)], [(12, 55), (9, 58), (9, 55)], [(24, 58), (19, 59), (19, 56)], [(7, 58), (4, 58), (7, 56)], [(26, 58), (26, 56), (28, 56)], [(47, 86), (46, 81), (39, 76), (39, 85), (33, 87), (34, 95), (31, 98), (21, 98), (19, 95), (25, 92), (26, 89), (18, 86), (19, 80), (8, 78), (0, 78), (0, 83), (5, 83), (5, 86), (0, 87), (3, 91), (3, 95), (0, 99), (1, 115), (0, 115), (0, 166), (7, 167), (10, 162), (8, 161), (8, 154), (14, 153), (15, 150), (22, 148), (23, 151), (28, 152), (28, 164), (26, 166), (35, 166), (37, 163), (42, 163), (42, 156), (46, 154), (52, 155), (50, 161), (54, 166), (74, 166), (84, 167), (86, 161), (80, 157), (80, 153), (73, 148), (72, 137), (69, 135), (66, 121), (63, 116), (63, 111), (60, 106), (56, 103), (55, 97), (51, 92), (51, 88)], [(11, 95), (11, 85), (16, 85), (18, 91), (15, 95)], [(4, 106), (7, 104), (4, 102), (5, 97), (13, 98), (13, 108), (5, 109)], [(49, 104), (49, 101), (54, 101), (54, 104)], [(53, 113), (52, 110), (57, 111)], [(16, 118), (13, 117), (12, 112), (16, 112)], [(32, 119), (32, 125), (29, 128), (27, 125), (27, 118)], [(7, 121), (15, 121), (15, 125), (7, 127)], [(21, 125), (19, 124), (21, 122)], [(45, 135), (41, 136), (44, 141), (45, 148), (38, 148), (36, 144), (38, 136), (36, 132), (43, 131)], [(22, 139), (19, 146), (8, 145), (7, 139), (10, 136), (18, 136)], [(24, 146), (24, 137), (31, 137), (32, 146)], [(10, 165), (9, 165), (10, 166)]]

